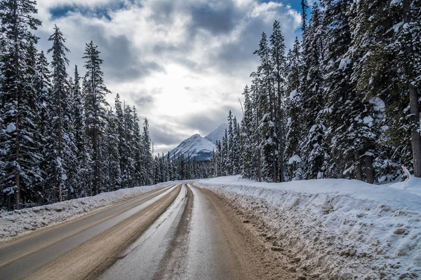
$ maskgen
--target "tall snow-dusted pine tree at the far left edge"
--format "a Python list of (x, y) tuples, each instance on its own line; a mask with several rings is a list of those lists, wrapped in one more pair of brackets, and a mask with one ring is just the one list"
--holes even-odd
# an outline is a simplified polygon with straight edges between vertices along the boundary
[(36, 2), (31, 0), (4, 0), (0, 2), (1, 33), (4, 54), (1, 63), (1, 112), (0, 130), (1, 172), (0, 188), (7, 195), (11, 209), (14, 195), (15, 209), (20, 209), (22, 197), (29, 192), (34, 180), (40, 176), (41, 155), (34, 147), (36, 133), (34, 111), (36, 96), (34, 76), (27, 72), (27, 55), (31, 43), (37, 38), (32, 34), (41, 21), (34, 18)]

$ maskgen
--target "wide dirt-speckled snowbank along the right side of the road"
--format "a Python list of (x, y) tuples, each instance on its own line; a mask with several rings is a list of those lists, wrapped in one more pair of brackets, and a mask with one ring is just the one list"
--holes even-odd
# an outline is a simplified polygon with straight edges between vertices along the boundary
[[(257, 218), (307, 279), (421, 279), (421, 179), (196, 181)], [(266, 235), (266, 233), (265, 233)], [(268, 237), (266, 237), (268, 239)]]

